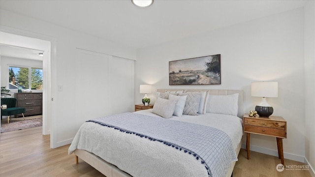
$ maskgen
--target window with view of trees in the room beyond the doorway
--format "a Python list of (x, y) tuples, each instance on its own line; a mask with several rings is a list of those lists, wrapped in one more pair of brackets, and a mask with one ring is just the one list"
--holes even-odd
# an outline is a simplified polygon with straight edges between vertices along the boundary
[(9, 89), (43, 89), (43, 69), (9, 66)]

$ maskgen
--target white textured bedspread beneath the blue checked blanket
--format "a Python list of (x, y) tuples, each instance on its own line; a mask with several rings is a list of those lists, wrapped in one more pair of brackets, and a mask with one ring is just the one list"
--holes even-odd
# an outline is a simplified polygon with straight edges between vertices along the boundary
[[(150, 113), (150, 110), (135, 113), (157, 116)], [(172, 119), (202, 125), (211, 124), (212, 127), (228, 134), (235, 149), (243, 134), (241, 119), (217, 114), (211, 116), (214, 118), (209, 118), (207, 114)], [(114, 128), (94, 122), (85, 122), (80, 127), (68, 149), (69, 154), (75, 149), (92, 152), (134, 177), (208, 177), (204, 165), (192, 155), (169, 148), (158, 141), (117, 133)], [(155, 160), (148, 160), (152, 158)]]

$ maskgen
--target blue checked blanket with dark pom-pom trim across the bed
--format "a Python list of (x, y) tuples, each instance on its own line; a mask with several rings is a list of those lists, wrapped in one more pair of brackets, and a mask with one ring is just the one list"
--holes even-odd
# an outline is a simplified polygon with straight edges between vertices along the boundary
[(213, 127), (134, 113), (96, 118), (87, 122), (111, 127), (130, 136), (158, 141), (193, 155), (204, 164), (209, 177), (225, 176), (231, 162), (237, 161), (229, 136)]

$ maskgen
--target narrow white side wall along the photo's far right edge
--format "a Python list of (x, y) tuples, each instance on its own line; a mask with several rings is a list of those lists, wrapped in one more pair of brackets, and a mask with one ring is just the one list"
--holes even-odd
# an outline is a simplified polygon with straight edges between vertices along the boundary
[(315, 177), (315, 1), (305, 5), (304, 14), (305, 57), (305, 157), (313, 167)]

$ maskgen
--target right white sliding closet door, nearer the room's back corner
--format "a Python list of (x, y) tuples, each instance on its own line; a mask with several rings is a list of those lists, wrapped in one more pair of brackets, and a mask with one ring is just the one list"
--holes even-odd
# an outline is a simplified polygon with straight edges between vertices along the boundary
[(134, 112), (134, 60), (109, 59), (111, 114)]

